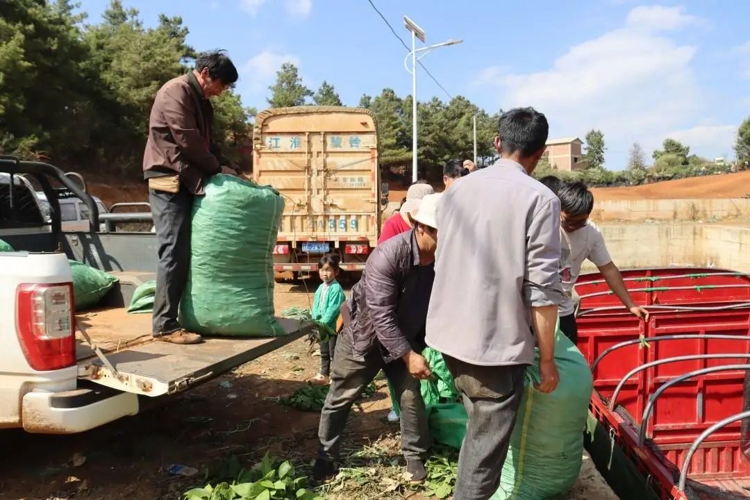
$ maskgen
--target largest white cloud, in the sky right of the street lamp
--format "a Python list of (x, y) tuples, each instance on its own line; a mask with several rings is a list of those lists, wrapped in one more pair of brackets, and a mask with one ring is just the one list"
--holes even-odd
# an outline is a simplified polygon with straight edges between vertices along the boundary
[[(636, 7), (628, 24), (644, 16)], [(628, 25), (571, 46), (547, 70), (487, 67), (476, 81), (499, 96), (503, 109), (544, 112), (550, 136), (583, 139), (587, 130), (602, 130), (607, 167), (622, 169), (633, 142), (651, 151), (667, 130), (697, 121), (704, 99), (691, 69), (696, 50)]]

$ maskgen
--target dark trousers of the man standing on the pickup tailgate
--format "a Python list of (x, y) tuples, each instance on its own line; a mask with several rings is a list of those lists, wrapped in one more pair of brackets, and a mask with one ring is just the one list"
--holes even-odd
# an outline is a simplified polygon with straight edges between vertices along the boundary
[(159, 244), (152, 331), (154, 335), (163, 335), (181, 328), (177, 315), (190, 269), (193, 194), (184, 187), (180, 187), (179, 193), (150, 189), (148, 202)]

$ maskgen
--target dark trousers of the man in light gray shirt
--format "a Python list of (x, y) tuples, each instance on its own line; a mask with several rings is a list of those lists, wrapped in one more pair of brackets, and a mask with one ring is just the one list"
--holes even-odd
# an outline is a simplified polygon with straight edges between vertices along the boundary
[(443, 358), (469, 415), (453, 500), (487, 500), (500, 484), (526, 365), (483, 367), (447, 355)]

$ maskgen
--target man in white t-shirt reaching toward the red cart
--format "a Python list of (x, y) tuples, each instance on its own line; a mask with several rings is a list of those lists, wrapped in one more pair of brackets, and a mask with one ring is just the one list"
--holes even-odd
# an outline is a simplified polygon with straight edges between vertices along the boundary
[(635, 305), (625, 281), (617, 266), (612, 262), (604, 237), (598, 227), (589, 221), (594, 209), (594, 195), (583, 182), (562, 183), (556, 190), (560, 200), (560, 243), (562, 255), (560, 274), (562, 275), (563, 301), (559, 306), (560, 330), (565, 337), (577, 341), (578, 329), (575, 323), (575, 303), (573, 298), (575, 282), (580, 274), (580, 266), (588, 259), (601, 272), (612, 292), (619, 301), (640, 319), (648, 319), (649, 313)]

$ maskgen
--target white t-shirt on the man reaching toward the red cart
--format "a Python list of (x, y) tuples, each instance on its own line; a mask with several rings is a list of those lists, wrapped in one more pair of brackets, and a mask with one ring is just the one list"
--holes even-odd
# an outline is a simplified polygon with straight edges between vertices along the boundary
[(565, 232), (560, 228), (560, 276), (562, 277), (562, 304), (559, 305), (559, 316), (568, 316), (574, 312), (573, 288), (580, 274), (583, 261), (589, 259), (597, 267), (612, 262), (598, 227), (589, 222), (574, 232)]

